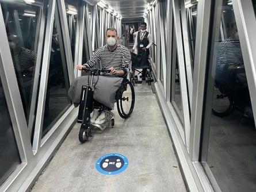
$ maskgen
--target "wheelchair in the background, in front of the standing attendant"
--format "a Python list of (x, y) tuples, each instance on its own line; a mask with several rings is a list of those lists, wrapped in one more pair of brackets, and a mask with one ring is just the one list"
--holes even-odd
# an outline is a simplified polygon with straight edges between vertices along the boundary
[(154, 81), (152, 76), (152, 68), (150, 62), (148, 62), (148, 58), (146, 52), (143, 52), (142, 55), (136, 55), (131, 52), (132, 56), (132, 70), (130, 73), (130, 82), (134, 86), (135, 83), (142, 83), (142, 80), (139, 80), (138, 75), (142, 75), (143, 69), (146, 69), (146, 83), (151, 85), (151, 82)]

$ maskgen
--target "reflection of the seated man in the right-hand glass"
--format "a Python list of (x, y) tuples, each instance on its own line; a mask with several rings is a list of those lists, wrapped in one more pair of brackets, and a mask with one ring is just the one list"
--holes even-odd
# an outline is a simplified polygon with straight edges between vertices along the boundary
[[(231, 25), (230, 37), (219, 43), (217, 48), (215, 84), (221, 93), (228, 97), (232, 109), (240, 109), (244, 112), (244, 116), (253, 118), (243, 55), (235, 23)], [(220, 115), (223, 116), (223, 114)], [(225, 114), (228, 113), (225, 112)]]

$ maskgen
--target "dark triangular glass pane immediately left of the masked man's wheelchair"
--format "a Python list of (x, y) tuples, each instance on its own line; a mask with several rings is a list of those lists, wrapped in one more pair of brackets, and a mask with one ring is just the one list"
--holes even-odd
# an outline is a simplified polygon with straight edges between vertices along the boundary
[(45, 99), (43, 136), (71, 105), (67, 95), (69, 89), (67, 64), (64, 49), (63, 47), (62, 50), (60, 48), (60, 44), (63, 45), (60, 36), (61, 30), (58, 29), (58, 25), (55, 22), (54, 20), (47, 95)]

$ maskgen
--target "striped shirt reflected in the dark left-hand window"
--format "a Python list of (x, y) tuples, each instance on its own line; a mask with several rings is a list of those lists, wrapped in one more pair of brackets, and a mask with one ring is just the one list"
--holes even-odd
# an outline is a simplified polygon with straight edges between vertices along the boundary
[(14, 68), (17, 71), (29, 70), (30, 67), (36, 64), (36, 53), (24, 47), (21, 47), (18, 55), (12, 53), (12, 57)]

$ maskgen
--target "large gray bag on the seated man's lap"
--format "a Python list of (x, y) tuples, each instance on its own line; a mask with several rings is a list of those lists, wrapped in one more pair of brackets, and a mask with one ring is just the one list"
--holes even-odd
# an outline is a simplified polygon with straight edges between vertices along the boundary
[[(94, 76), (92, 86), (94, 87), (93, 99), (109, 107), (110, 109), (113, 109), (114, 102), (116, 101), (116, 91), (120, 88), (122, 82), (123, 78), (114, 78), (101, 75)], [(89, 76), (88, 82), (87, 75), (79, 76), (71, 83), (70, 89), (68, 89), (68, 96), (74, 103), (75, 107), (77, 107), (80, 103), (82, 86), (89, 86), (90, 83), (91, 76)]]

